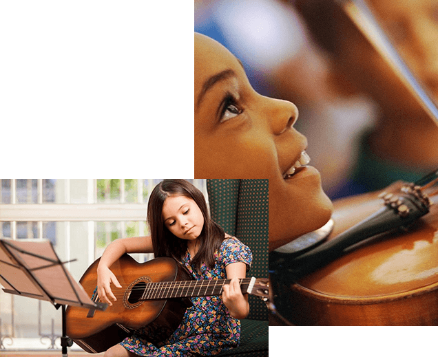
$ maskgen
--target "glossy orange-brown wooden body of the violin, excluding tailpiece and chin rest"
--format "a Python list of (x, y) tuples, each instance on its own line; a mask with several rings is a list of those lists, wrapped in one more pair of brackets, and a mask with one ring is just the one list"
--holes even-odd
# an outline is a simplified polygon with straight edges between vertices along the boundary
[[(379, 193), (334, 202), (328, 241), (382, 207)], [(403, 230), (377, 235), (298, 281), (271, 276), (278, 312), (295, 325), (438, 325), (438, 197)]]

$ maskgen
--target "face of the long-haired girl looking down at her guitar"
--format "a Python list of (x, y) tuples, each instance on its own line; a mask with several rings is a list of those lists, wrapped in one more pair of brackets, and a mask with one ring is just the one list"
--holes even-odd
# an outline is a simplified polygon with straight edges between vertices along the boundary
[(204, 216), (196, 202), (185, 196), (169, 196), (163, 205), (163, 221), (180, 239), (193, 241), (204, 228)]

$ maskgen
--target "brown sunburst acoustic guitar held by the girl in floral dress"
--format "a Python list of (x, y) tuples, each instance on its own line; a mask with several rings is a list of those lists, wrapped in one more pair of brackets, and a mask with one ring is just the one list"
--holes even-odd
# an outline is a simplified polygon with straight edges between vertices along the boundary
[[(99, 302), (97, 294), (96, 260), (83, 274), (81, 285)], [(116, 275), (122, 289), (114, 288), (117, 301), (105, 312), (67, 307), (67, 336), (90, 353), (106, 351), (120, 343), (140, 327), (147, 329), (148, 341), (166, 340), (178, 328), (187, 307), (189, 297), (219, 296), (223, 286), (231, 280), (192, 280), (185, 268), (172, 258), (157, 258), (138, 263), (129, 255), (123, 255), (110, 269)], [(243, 294), (269, 299), (268, 279), (240, 279)]]

